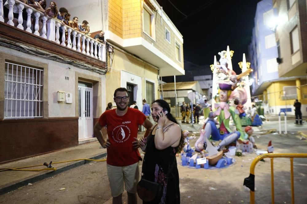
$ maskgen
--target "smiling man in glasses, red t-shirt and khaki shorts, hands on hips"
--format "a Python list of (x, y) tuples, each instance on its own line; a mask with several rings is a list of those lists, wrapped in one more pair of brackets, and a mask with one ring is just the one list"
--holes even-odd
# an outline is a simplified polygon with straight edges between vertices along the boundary
[[(146, 129), (152, 123), (138, 109), (128, 108), (129, 96), (126, 88), (114, 92), (116, 109), (105, 111), (94, 126), (94, 135), (103, 148), (107, 148), (107, 175), (109, 177), (113, 203), (122, 203), (123, 183), (128, 203), (137, 203), (136, 185), (139, 180), (138, 125)], [(107, 141), (101, 129), (107, 126)]]

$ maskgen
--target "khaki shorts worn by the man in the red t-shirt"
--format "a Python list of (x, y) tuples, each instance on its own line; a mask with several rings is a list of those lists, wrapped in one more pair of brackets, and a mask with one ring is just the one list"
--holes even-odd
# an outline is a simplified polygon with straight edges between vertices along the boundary
[(107, 164), (107, 175), (112, 197), (117, 197), (124, 192), (124, 182), (128, 193), (136, 193), (136, 185), (140, 177), (138, 162), (124, 167)]

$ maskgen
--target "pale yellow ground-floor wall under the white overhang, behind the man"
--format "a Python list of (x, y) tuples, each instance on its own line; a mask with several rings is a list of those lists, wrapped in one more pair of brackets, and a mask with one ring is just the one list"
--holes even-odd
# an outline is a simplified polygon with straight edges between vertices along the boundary
[(145, 96), (145, 78), (155, 81), (155, 99), (158, 99), (158, 70), (146, 62), (115, 49), (111, 72), (106, 74), (106, 102), (113, 102), (115, 89), (121, 86), (121, 70), (142, 78), (142, 96)]

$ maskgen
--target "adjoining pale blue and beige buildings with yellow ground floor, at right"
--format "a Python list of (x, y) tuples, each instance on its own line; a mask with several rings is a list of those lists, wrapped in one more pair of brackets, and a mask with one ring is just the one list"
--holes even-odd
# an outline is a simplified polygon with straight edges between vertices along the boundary
[(255, 70), (252, 94), (263, 101), (265, 113), (294, 115), (293, 104), (298, 99), (302, 114), (307, 115), (305, 18), (306, 1), (263, 0), (257, 4), (249, 59)]

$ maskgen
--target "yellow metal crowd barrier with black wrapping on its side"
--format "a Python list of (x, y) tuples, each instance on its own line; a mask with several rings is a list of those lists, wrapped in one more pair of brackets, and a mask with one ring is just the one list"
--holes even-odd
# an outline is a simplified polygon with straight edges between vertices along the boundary
[(272, 204), (274, 204), (274, 169), (273, 159), (274, 157), (288, 157), (291, 164), (291, 195), (292, 204), (294, 204), (294, 180), (293, 180), (293, 158), (307, 158), (307, 153), (267, 153), (259, 155), (251, 163), (250, 176), (244, 179), (244, 186), (251, 189), (250, 191), (250, 203), (255, 204), (255, 167), (258, 161), (269, 157), (271, 160), (271, 192), (272, 192)]

